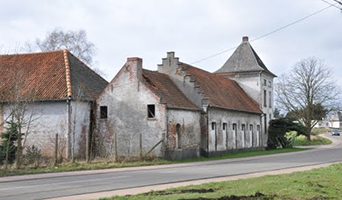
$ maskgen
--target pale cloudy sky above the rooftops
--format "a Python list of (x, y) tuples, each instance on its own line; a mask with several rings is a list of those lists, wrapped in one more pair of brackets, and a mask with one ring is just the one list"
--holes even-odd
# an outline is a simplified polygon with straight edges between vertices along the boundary
[[(97, 47), (97, 67), (111, 80), (127, 57), (143, 58), (152, 70), (167, 51), (193, 63), (327, 6), (322, 0), (0, 0), (0, 47), (15, 51), (56, 27), (84, 29)], [(342, 85), (342, 13), (335, 7), (252, 46), (277, 75), (303, 58), (324, 59)], [(194, 65), (212, 72), (232, 53)]]

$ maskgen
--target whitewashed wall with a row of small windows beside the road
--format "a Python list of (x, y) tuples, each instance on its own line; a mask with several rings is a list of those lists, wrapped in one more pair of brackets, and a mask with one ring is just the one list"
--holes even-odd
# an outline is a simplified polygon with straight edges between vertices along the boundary
[[(215, 152), (264, 147), (266, 136), (261, 132), (260, 117), (260, 114), (210, 108), (208, 110), (209, 155)], [(236, 124), (236, 132), (233, 130), (233, 124)]]

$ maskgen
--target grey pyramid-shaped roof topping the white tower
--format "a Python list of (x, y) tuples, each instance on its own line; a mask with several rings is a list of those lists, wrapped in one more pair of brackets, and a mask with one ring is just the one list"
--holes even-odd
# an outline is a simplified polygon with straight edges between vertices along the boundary
[(242, 43), (235, 50), (233, 55), (226, 61), (226, 63), (214, 73), (234, 73), (234, 72), (259, 72), (264, 71), (274, 77), (266, 65), (262, 62), (258, 54), (255, 52), (248, 38), (244, 37)]

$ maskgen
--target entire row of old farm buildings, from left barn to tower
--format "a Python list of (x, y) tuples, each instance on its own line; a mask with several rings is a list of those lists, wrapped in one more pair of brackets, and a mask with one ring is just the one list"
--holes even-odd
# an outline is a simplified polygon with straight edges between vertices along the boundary
[(128, 58), (108, 83), (67, 50), (2, 55), (0, 132), (13, 106), (25, 102), (34, 119), (25, 145), (51, 152), (59, 134), (66, 157), (84, 153), (89, 138), (98, 155), (115, 158), (174, 160), (263, 149), (275, 75), (247, 37), (217, 68), (210, 73), (169, 52), (157, 71)]

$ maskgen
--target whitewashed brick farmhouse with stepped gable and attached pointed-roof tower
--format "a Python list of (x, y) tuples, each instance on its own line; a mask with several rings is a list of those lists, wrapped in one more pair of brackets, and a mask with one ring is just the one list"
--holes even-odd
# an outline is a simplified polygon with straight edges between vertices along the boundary
[[(184, 159), (263, 149), (275, 75), (248, 39), (236, 52), (215, 73), (180, 62), (174, 52), (158, 71), (143, 69), (140, 58), (128, 58), (97, 100), (104, 153)], [(234, 59), (252, 61), (236, 67)]]

